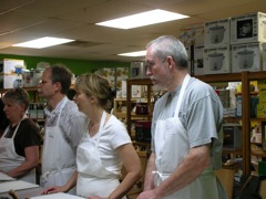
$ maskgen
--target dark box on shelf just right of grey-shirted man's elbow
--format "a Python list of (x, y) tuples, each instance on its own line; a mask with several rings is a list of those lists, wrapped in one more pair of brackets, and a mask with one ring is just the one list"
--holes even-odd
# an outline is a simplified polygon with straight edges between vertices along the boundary
[(223, 125), (223, 149), (234, 150), (242, 147), (242, 125), (224, 124)]

